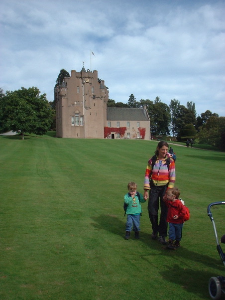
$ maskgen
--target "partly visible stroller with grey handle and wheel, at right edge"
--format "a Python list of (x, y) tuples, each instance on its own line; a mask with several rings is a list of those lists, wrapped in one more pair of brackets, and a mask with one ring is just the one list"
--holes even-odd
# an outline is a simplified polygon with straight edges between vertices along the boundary
[[(207, 212), (208, 212), (208, 216), (210, 217), (212, 224), (213, 224), (214, 233), (215, 233), (215, 237), (216, 237), (216, 243), (217, 243), (217, 251), (220, 255), (220, 258), (221, 258), (223, 264), (225, 265), (225, 253), (223, 252), (221, 245), (219, 243), (218, 235), (217, 235), (217, 228), (215, 225), (213, 214), (211, 212), (212, 206), (221, 205), (221, 204), (225, 204), (225, 201), (214, 202), (214, 203), (209, 204)], [(214, 300), (221, 299), (222, 293), (225, 294), (225, 277), (224, 276), (211, 277), (209, 280), (208, 288), (209, 288), (210, 297), (212, 299), (214, 299)]]

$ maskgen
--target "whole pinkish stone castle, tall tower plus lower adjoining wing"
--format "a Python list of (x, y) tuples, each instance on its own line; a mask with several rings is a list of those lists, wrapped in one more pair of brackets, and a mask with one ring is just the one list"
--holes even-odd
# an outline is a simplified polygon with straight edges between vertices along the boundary
[(109, 90), (98, 71), (72, 70), (55, 88), (56, 136), (150, 140), (146, 108), (107, 108)]

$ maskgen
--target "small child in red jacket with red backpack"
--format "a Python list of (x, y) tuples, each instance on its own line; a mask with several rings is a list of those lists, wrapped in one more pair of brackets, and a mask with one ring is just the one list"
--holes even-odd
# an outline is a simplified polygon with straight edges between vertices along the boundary
[(169, 222), (169, 242), (167, 248), (175, 249), (180, 247), (182, 228), (184, 223), (185, 207), (179, 200), (180, 191), (177, 187), (171, 188), (164, 196), (168, 207), (167, 222)]

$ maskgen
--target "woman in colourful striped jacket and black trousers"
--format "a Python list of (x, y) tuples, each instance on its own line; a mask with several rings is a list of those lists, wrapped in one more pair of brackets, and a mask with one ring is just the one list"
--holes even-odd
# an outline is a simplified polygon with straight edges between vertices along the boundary
[[(167, 189), (172, 188), (175, 183), (175, 161), (168, 153), (169, 145), (159, 142), (155, 155), (149, 160), (144, 177), (144, 197), (148, 197), (148, 215), (152, 224), (152, 239), (155, 240), (159, 233), (159, 242), (166, 244), (167, 236), (167, 207), (163, 197)], [(158, 224), (158, 210), (160, 200), (160, 220)]]

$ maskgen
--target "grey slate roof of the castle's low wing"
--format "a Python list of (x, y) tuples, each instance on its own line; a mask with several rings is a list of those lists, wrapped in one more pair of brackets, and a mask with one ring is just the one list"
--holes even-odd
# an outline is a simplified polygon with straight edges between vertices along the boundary
[(107, 121), (149, 121), (143, 108), (107, 108)]

